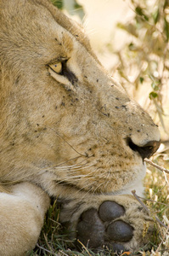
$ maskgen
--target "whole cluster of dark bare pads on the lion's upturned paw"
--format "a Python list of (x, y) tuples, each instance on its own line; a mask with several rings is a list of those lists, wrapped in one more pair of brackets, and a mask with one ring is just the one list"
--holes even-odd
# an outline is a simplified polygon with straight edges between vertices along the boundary
[(94, 208), (83, 212), (77, 224), (77, 239), (90, 248), (108, 247), (117, 253), (125, 251), (121, 242), (132, 239), (133, 228), (119, 219), (124, 214), (124, 207), (114, 201), (104, 201), (99, 212)]

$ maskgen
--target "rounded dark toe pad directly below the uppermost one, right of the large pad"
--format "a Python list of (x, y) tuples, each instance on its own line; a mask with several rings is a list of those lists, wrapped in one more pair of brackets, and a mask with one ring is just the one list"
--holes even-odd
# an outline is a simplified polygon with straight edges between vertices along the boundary
[(122, 220), (117, 220), (107, 228), (107, 235), (112, 241), (130, 241), (133, 236), (133, 228)]

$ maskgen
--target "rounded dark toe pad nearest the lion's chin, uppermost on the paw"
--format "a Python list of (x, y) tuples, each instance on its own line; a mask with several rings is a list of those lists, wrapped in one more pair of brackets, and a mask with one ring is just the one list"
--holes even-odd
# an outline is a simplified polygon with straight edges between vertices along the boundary
[(125, 209), (115, 201), (104, 201), (103, 204), (99, 207), (99, 217), (103, 221), (112, 221), (115, 218), (121, 217), (124, 215)]

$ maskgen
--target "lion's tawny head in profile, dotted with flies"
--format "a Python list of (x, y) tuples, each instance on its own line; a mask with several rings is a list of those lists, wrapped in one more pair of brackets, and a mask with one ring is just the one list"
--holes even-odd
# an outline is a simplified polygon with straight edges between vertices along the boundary
[(1, 181), (50, 194), (132, 188), (159, 146), (152, 119), (47, 0), (1, 6)]

